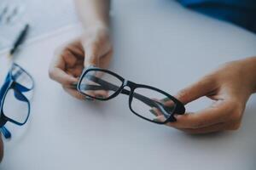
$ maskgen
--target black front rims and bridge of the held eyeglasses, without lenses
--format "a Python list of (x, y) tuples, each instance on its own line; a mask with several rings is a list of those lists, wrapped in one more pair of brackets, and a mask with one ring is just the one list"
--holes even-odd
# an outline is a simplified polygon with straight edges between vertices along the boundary
[[(82, 90), (81, 90), (81, 83), (85, 77), (85, 75), (89, 72), (89, 71), (102, 71), (102, 72), (106, 72), (110, 75), (112, 75), (113, 77), (117, 77), (121, 82), (121, 86), (119, 87), (119, 89), (117, 91), (115, 91), (112, 95), (110, 95), (108, 98), (106, 99), (102, 99), (102, 98), (96, 98), (95, 96), (90, 96), (89, 94), (85, 94)], [(97, 77), (98, 78), (98, 77)], [(109, 82), (108, 82), (109, 83)], [(111, 84), (111, 83), (110, 83)], [(116, 86), (116, 85), (113, 85), (111, 84), (111, 86)], [(126, 90), (125, 87), (129, 87), (130, 88), (130, 91)], [(166, 92), (160, 90), (159, 88), (154, 88), (154, 87), (151, 87), (151, 86), (148, 86), (148, 85), (144, 85), (144, 84), (137, 84), (135, 82), (131, 82), (129, 80), (126, 80), (124, 77), (120, 77), (118, 74), (114, 73), (113, 71), (109, 71), (109, 70), (106, 70), (106, 69), (102, 69), (102, 68), (98, 68), (96, 66), (93, 66), (93, 65), (90, 65), (89, 67), (86, 67), (84, 68), (84, 70), (82, 71), (82, 74), (81, 76), (79, 77), (79, 82), (77, 84), (77, 90), (79, 91), (80, 94), (83, 94), (85, 96), (88, 96), (92, 99), (97, 99), (97, 100), (103, 100), (103, 101), (106, 101), (106, 100), (109, 100), (109, 99), (113, 99), (115, 98), (116, 96), (118, 96), (119, 94), (125, 94), (126, 95), (129, 95), (129, 108), (131, 110), (131, 112), (133, 112), (135, 115), (143, 118), (144, 120), (147, 120), (149, 122), (154, 122), (153, 120), (150, 120), (148, 119), (147, 117), (144, 117), (144, 116), (141, 116), (140, 114), (138, 114), (136, 111), (133, 111), (132, 107), (131, 107), (131, 101), (132, 99), (134, 98), (134, 90), (136, 88), (148, 88), (148, 89), (151, 89), (151, 90), (154, 90), (156, 92), (159, 92), (160, 94), (164, 94), (166, 95), (166, 97), (168, 97), (169, 99), (171, 99), (173, 101), (173, 103), (175, 104), (175, 108), (173, 109), (172, 111), (172, 115), (170, 117), (168, 117), (166, 119), (166, 121), (164, 122), (154, 122), (154, 123), (157, 123), (157, 124), (166, 124), (167, 122), (176, 122), (176, 118), (174, 117), (174, 114), (178, 114), (178, 115), (183, 115), (185, 113), (185, 107), (183, 105), (182, 102), (180, 102), (178, 99), (176, 99), (175, 97), (173, 97), (172, 95), (170, 94), (167, 94)], [(122, 93), (122, 91), (124, 91), (124, 93)], [(127, 92), (129, 92), (129, 94), (127, 94)]]

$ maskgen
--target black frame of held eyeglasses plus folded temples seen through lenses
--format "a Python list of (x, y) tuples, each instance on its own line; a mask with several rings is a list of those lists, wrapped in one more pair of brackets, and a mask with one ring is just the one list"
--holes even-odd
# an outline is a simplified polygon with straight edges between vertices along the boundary
[[(102, 86), (104, 86), (105, 90), (114, 90), (115, 92), (106, 99), (101, 99), (101, 98), (97, 98), (97, 97), (94, 97), (94, 96), (90, 96), (88, 94), (84, 94), (83, 90), (81, 89), (81, 84), (82, 84), (82, 81), (83, 81), (84, 77), (86, 77), (86, 74), (89, 71), (102, 71), (102, 72), (108, 73), (108, 74), (112, 75), (113, 77), (117, 77), (122, 82), (122, 84), (119, 87), (117, 87), (117, 86), (113, 85), (110, 82), (106, 82), (106, 81), (102, 80), (99, 77), (90, 76), (89, 77), (90, 79), (95, 79), (96, 82), (98, 82)], [(129, 87), (131, 89), (131, 91), (126, 90), (125, 89), (126, 86)], [(131, 112), (133, 112), (135, 115), (143, 118), (144, 120), (147, 120), (148, 122), (154, 122), (154, 123), (157, 123), (157, 124), (166, 124), (167, 122), (176, 122), (177, 120), (174, 117), (174, 114), (183, 115), (185, 113), (185, 107), (184, 107), (182, 102), (180, 102), (178, 99), (176, 99), (172, 95), (167, 94), (166, 92), (160, 90), (159, 88), (154, 88), (154, 87), (151, 87), (151, 86), (148, 86), (148, 85), (143, 85), (143, 84), (137, 84), (135, 82), (125, 80), (125, 78), (120, 77), (118, 74), (114, 73), (113, 71), (108, 71), (108, 70), (105, 70), (105, 69), (101, 69), (101, 68), (98, 68), (98, 67), (93, 66), (93, 65), (90, 65), (89, 67), (84, 68), (84, 71), (82, 72), (81, 76), (79, 77), (79, 83), (77, 84), (76, 88), (77, 88), (77, 90), (79, 91), (80, 94), (84, 94), (87, 97), (90, 97), (92, 99), (98, 99), (98, 100), (113, 99), (114, 97), (116, 97), (119, 94), (129, 95), (129, 108), (130, 108)], [(93, 89), (93, 90), (102, 89), (102, 87), (95, 86), (95, 85), (89, 85), (88, 88)], [(152, 120), (148, 119), (147, 117), (141, 116), (136, 111), (134, 111), (131, 107), (131, 101), (132, 101), (133, 98), (140, 99), (146, 105), (156, 106), (157, 108), (160, 109), (160, 111), (162, 111), (163, 114), (164, 114), (164, 112), (169, 110), (164, 105), (162, 105), (160, 102), (157, 102), (157, 101), (152, 102), (153, 101), (152, 99), (148, 99), (147, 97), (145, 97), (141, 94), (134, 93), (134, 90), (136, 88), (148, 88), (148, 89), (154, 90), (156, 92), (159, 92), (160, 94), (166, 95), (166, 97), (168, 99), (172, 99), (172, 102), (174, 102), (175, 105), (174, 105), (174, 108), (171, 108), (172, 109), (171, 116), (168, 116), (168, 118), (164, 122), (155, 122), (155, 121), (152, 121)]]

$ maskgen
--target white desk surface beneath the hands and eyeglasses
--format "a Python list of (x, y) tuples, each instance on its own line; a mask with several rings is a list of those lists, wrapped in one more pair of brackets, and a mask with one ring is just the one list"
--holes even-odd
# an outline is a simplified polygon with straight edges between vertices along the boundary
[[(1, 170), (255, 169), (255, 96), (238, 131), (203, 136), (145, 122), (132, 115), (127, 96), (102, 103), (73, 99), (47, 70), (55, 47), (76, 34), (75, 26), (22, 50), (18, 61), (36, 81), (32, 115), (25, 127), (9, 124), (13, 139), (4, 141)], [(168, 0), (114, 1), (113, 41), (112, 71), (170, 94), (225, 61), (256, 54), (252, 33)], [(187, 110), (208, 104), (200, 99)]]

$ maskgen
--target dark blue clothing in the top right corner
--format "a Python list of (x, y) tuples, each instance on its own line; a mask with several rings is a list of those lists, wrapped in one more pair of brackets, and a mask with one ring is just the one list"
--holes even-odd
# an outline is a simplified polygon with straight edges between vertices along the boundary
[(188, 8), (256, 32), (256, 0), (177, 0)]

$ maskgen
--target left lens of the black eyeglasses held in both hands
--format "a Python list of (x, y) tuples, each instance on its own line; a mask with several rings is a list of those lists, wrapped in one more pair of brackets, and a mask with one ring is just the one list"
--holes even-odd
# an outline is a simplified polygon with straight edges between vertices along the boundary
[(82, 79), (79, 90), (96, 99), (108, 99), (120, 87), (122, 81), (104, 71), (88, 71)]

